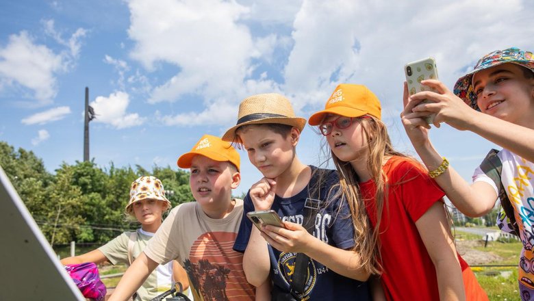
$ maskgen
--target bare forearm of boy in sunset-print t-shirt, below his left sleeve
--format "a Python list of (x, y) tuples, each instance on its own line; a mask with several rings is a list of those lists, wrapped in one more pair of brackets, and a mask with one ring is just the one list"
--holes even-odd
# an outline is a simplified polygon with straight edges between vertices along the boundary
[(157, 263), (147, 257), (142, 252), (139, 257), (131, 263), (123, 278), (120, 278), (116, 289), (113, 291), (109, 301), (126, 301), (135, 293), (139, 287), (147, 280), (150, 273), (157, 267)]

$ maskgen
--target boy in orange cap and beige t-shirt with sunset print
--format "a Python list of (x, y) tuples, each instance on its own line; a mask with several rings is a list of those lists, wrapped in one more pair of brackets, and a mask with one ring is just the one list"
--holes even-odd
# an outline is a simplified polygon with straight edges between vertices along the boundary
[(194, 300), (254, 300), (242, 254), (231, 248), (243, 213), (243, 201), (231, 198), (231, 189), (241, 181), (238, 152), (220, 138), (204, 135), (177, 163), (190, 168), (196, 202), (170, 211), (110, 300), (125, 300), (155, 266), (173, 259), (186, 269)]

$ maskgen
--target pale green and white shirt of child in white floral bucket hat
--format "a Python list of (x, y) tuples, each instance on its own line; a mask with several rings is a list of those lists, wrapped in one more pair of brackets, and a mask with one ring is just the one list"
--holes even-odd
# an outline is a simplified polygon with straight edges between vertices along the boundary
[[(153, 237), (153, 233), (142, 231), (138, 229), (137, 239), (133, 244), (133, 250), (131, 252), (132, 262), (141, 254), (142, 250), (147, 246), (149, 239)], [(115, 237), (112, 241), (101, 246), (99, 250), (112, 264), (126, 263), (128, 262), (128, 242), (130, 239), (130, 232), (124, 232), (123, 234)], [(149, 278), (142, 284), (137, 290), (136, 300), (151, 300), (160, 293), (170, 289), (173, 275), (173, 263), (169, 262), (166, 265), (158, 265)]]

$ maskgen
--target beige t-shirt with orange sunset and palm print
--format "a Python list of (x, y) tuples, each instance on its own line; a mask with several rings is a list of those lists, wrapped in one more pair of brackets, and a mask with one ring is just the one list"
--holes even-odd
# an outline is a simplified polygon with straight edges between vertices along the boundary
[(181, 204), (170, 211), (144, 253), (160, 264), (176, 259), (188, 272), (194, 300), (254, 300), (243, 254), (232, 249), (242, 216), (240, 199), (222, 219), (209, 218), (198, 202)]

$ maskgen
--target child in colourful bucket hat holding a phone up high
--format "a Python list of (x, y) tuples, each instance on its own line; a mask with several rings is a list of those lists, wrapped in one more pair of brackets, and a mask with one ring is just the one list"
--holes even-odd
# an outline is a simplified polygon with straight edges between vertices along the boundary
[[(454, 94), (440, 81), (422, 83), (438, 92), (421, 92), (408, 97), (405, 91), (405, 109), (401, 116), (414, 148), (429, 170), (444, 161), (429, 140), (429, 125), (421, 119), (429, 114), (436, 114), (436, 127), (439, 122), (446, 122), (503, 147), (498, 152), (503, 163), (500, 180), (513, 205), (523, 243), (518, 273), (520, 295), (522, 300), (534, 300), (534, 269), (531, 267), (534, 258), (531, 218), (534, 197), (533, 53), (509, 48), (484, 55), (472, 72), (458, 79)], [(422, 99), (432, 103), (422, 104)], [(498, 187), (480, 167), (474, 171), (471, 185), (452, 167), (445, 169), (435, 180), (450, 201), (469, 216), (484, 215), (497, 200)], [(501, 228), (503, 226), (506, 228), (500, 224)]]

